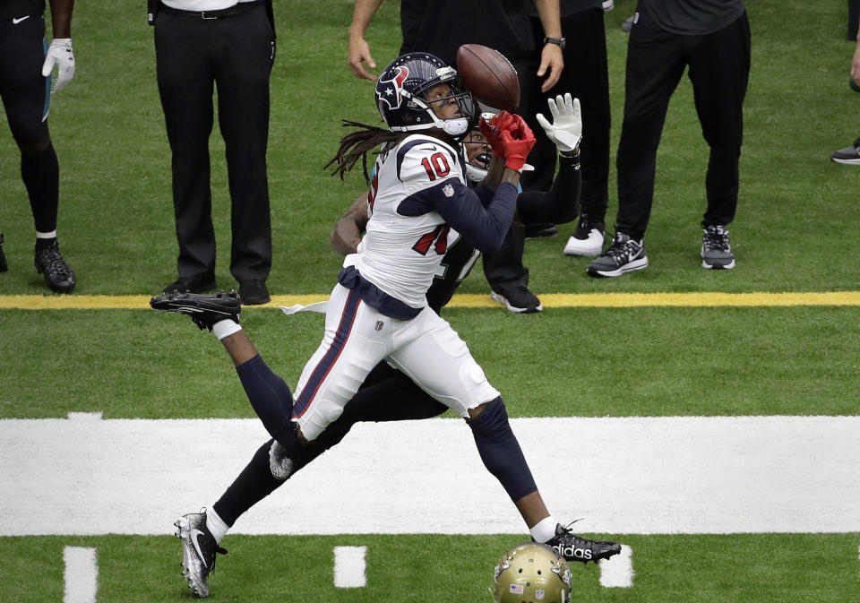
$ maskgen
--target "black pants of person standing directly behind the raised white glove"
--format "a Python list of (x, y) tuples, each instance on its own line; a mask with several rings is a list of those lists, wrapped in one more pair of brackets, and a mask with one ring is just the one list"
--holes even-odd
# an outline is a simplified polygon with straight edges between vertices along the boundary
[[(570, 92), (580, 99), (582, 109), (582, 212), (603, 220), (609, 201), (609, 68), (606, 62), (606, 27), (603, 9), (593, 8), (562, 17), (562, 35), (567, 40), (563, 50), (564, 69), (557, 84), (546, 93), (540, 92), (540, 83), (531, 84), (538, 91), (532, 102), (533, 111), (524, 116), (535, 133), (537, 142), (529, 153), (529, 163), (535, 171), (522, 175), (522, 188), (526, 191), (548, 191), (555, 174), (555, 143), (550, 141), (535, 118), (542, 113), (552, 121), (546, 99)], [(543, 39), (543, 26), (532, 18), (535, 39)], [(537, 68), (537, 66), (536, 66)]]

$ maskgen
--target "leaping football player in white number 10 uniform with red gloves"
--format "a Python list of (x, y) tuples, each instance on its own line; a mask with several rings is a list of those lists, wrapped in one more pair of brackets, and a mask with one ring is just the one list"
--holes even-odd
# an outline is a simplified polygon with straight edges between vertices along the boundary
[[(482, 461), (512, 498), (532, 538), (579, 561), (616, 554), (617, 544), (588, 541), (583, 546), (582, 538), (553, 519), (511, 431), (499, 392), (486, 381), (466, 344), (426, 301), (452, 228), (480, 250), (501, 244), (533, 134), (520, 116), (504, 112), (482, 122), (482, 132), (494, 154), (504, 159), (504, 169), (495, 192), (486, 187), (476, 192), (467, 184), (457, 149), (477, 112), (456, 72), (437, 57), (411, 53), (389, 65), (375, 91), (389, 130), (363, 126), (344, 137), (335, 158), (342, 175), (383, 145), (368, 194), (366, 236), (357, 254), (348, 256), (331, 292), (323, 341), (306, 364), (295, 397), (239, 326), (235, 295), (173, 293), (153, 298), (151, 306), (191, 315), (224, 344), (274, 439), (269, 455), (275, 478), (286, 479), (304, 464), (303, 451), (340, 417), (384, 359), (468, 420)], [(205, 596), (202, 591), (208, 594), (210, 557), (213, 565), (219, 536), (227, 531), (223, 521), (218, 523), (202, 513), (177, 521), (186, 545), (185, 575), (200, 596)], [(203, 530), (211, 533), (212, 550), (200, 558), (189, 534)], [(190, 574), (202, 575), (202, 584)]]

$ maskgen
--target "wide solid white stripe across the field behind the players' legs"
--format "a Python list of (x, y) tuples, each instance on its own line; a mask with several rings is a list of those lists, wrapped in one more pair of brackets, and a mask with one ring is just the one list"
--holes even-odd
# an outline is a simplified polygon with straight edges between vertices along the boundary
[[(606, 534), (860, 531), (860, 417), (520, 418), (559, 521)], [(254, 419), (0, 420), (0, 535), (168, 534), (267, 439)], [(322, 530), (322, 531), (321, 531)], [(235, 533), (525, 533), (460, 419), (367, 424)]]

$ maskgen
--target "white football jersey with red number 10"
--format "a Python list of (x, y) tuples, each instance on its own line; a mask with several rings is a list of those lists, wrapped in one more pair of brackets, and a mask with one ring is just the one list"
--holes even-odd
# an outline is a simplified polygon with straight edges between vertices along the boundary
[(453, 242), (457, 234), (436, 211), (406, 216), (398, 209), (422, 195), (450, 197), (452, 182), (467, 183), (460, 154), (424, 134), (408, 136), (376, 159), (367, 199), (370, 220), (355, 265), (366, 280), (409, 306), (426, 306), (449, 237)]

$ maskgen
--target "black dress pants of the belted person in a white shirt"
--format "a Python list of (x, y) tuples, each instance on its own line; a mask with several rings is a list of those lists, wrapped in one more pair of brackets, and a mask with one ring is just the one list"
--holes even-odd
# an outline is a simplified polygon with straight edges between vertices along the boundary
[(209, 157), (215, 86), (232, 201), (230, 272), (239, 281), (266, 280), (271, 270), (266, 147), (275, 37), (262, 2), (244, 8), (202, 19), (161, 5), (155, 19), (159, 93), (173, 154), (180, 278), (211, 280), (215, 270)]

